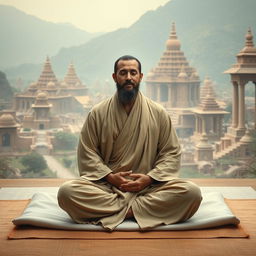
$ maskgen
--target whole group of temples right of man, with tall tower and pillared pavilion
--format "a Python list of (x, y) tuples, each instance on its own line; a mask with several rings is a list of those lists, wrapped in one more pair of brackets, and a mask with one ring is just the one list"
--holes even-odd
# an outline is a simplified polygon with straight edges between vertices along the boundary
[(223, 119), (228, 112), (217, 101), (208, 77), (200, 88), (197, 71), (189, 66), (181, 51), (175, 24), (172, 24), (166, 50), (146, 77), (146, 93), (165, 106), (171, 115), (183, 146), (183, 165), (195, 164), (199, 169), (206, 166), (209, 169), (209, 165), (214, 166), (217, 160), (227, 156), (239, 160), (252, 157), (252, 138), (250, 129), (245, 127), (244, 102), (245, 84), (252, 81), (256, 86), (256, 48), (250, 29), (245, 47), (237, 55), (237, 64), (225, 73), (231, 74), (233, 102), (232, 125), (224, 134)]

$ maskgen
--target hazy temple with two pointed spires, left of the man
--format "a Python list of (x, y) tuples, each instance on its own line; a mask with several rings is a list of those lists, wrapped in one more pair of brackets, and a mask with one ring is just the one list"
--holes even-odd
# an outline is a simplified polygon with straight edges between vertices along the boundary
[[(38, 81), (31, 83), (26, 91), (15, 96), (14, 109), (17, 114), (30, 111), (37, 95), (41, 92), (46, 94), (49, 103), (52, 104), (51, 112), (54, 114), (76, 112), (82, 106), (79, 96), (88, 95), (88, 89), (77, 77), (73, 64), (69, 65), (64, 80), (58, 81), (48, 57)], [(90, 104), (89, 97), (87, 104)]]

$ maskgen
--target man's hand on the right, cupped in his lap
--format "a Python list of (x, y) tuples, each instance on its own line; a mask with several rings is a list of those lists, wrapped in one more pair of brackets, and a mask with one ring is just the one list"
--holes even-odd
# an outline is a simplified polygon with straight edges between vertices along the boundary
[(120, 190), (125, 192), (139, 192), (153, 182), (150, 176), (141, 173), (131, 173), (129, 177), (132, 178), (132, 180), (122, 183), (119, 187)]

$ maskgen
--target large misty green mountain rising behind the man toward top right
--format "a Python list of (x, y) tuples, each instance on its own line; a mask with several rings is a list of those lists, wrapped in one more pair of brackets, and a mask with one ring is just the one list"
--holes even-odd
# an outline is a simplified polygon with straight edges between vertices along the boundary
[[(209, 75), (219, 88), (230, 87), (229, 77), (223, 71), (236, 62), (235, 55), (244, 47), (244, 35), (249, 26), (256, 34), (255, 10), (255, 0), (171, 0), (145, 13), (127, 29), (61, 49), (51, 59), (53, 69), (58, 77), (63, 77), (73, 60), (78, 75), (85, 82), (111, 79), (115, 59), (131, 54), (141, 60), (146, 75), (159, 61), (171, 23), (175, 22), (181, 50), (190, 65), (197, 69), (201, 80)], [(34, 66), (37, 74), (42, 64)], [(6, 71), (9, 77), (32, 78), (31, 70), (31, 67), (20, 66)]]

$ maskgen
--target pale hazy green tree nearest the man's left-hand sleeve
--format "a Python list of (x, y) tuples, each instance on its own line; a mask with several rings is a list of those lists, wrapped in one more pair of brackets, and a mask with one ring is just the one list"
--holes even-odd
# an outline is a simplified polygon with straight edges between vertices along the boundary
[(78, 138), (72, 133), (57, 132), (55, 134), (55, 143), (58, 150), (75, 150)]

